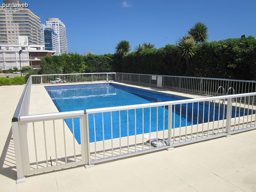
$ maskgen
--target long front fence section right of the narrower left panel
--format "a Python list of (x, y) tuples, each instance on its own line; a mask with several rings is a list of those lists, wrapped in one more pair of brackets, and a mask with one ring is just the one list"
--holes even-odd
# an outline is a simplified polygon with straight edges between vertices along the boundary
[[(93, 138), (90, 143), (92, 163), (255, 128), (255, 95), (245, 93), (85, 110), (87, 127), (89, 115), (93, 115), (90, 127), (93, 129), (90, 132), (93, 134), (90, 135)], [(96, 115), (102, 124), (98, 129), (95, 126)], [(104, 139), (105, 131), (111, 132), (110, 140)], [(119, 133), (119, 137), (113, 137), (114, 131)], [(124, 132), (126, 135), (122, 137)], [(102, 134), (102, 141), (96, 139), (99, 134)], [(166, 140), (168, 144), (161, 142), (153, 147), (145, 136), (156, 142)]]

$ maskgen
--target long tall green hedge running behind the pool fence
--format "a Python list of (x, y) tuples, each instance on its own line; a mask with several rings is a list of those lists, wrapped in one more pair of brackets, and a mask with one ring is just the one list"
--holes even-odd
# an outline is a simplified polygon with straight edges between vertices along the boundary
[(68, 53), (44, 57), (41, 73), (144, 73), (256, 80), (256, 39), (233, 38), (201, 43), (187, 67), (178, 46), (144, 49), (125, 55)]

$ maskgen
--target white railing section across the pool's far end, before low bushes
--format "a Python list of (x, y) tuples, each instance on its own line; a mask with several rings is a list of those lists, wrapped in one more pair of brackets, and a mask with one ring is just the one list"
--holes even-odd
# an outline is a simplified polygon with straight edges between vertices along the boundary
[(71, 73), (32, 75), (32, 84), (65, 84), (81, 82), (109, 82), (115, 80), (116, 73)]

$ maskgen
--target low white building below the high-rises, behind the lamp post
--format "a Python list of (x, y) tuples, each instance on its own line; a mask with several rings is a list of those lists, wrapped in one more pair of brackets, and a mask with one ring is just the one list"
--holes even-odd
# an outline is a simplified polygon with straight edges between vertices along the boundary
[[(22, 50), (19, 55), (19, 51)], [(0, 44), (0, 68), (2, 70), (17, 67), (20, 70), (24, 66), (32, 66), (34, 69), (40, 65), (44, 56), (51, 56), (54, 51), (44, 50), (44, 45), (29, 45), (26, 36), (19, 36), (18, 45)]]

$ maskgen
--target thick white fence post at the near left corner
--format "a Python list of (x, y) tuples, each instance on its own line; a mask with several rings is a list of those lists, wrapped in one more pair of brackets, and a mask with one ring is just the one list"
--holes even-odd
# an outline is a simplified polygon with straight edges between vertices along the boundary
[(21, 145), (20, 145), (20, 134), (19, 134), (19, 126), (18, 122), (12, 120), (12, 136), (14, 143), (14, 151), (15, 151), (15, 161), (16, 161), (16, 169), (17, 169), (17, 180), (16, 183), (25, 182), (24, 172), (23, 172), (23, 163), (22, 163), (22, 155), (21, 155)]

